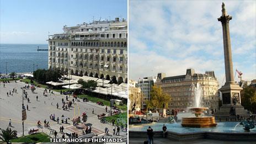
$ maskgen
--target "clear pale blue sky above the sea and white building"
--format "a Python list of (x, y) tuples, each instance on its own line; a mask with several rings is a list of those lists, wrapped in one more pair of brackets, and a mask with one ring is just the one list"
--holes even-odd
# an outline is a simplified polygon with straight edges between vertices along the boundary
[(63, 25), (127, 19), (126, 0), (0, 0), (1, 44), (47, 44)]

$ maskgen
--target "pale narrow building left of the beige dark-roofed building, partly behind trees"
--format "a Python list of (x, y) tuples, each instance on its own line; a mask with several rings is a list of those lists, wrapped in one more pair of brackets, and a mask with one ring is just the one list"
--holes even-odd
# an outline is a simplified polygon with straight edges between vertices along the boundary
[(157, 77), (151, 76), (151, 77), (144, 77), (143, 79), (139, 79), (136, 83), (136, 87), (141, 89), (141, 93), (143, 96), (143, 102), (142, 102), (142, 109), (146, 109), (146, 102), (147, 100), (150, 100), (150, 90), (151, 87), (156, 83)]

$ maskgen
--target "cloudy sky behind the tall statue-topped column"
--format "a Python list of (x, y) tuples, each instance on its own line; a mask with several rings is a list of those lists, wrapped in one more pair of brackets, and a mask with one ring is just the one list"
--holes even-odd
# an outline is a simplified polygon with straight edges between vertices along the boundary
[[(256, 79), (256, 1), (224, 1), (230, 20), (233, 71)], [(130, 1), (129, 79), (214, 71), (225, 83), (222, 1)], [(143, 6), (143, 8), (141, 8)], [(235, 80), (239, 81), (236, 74)]]

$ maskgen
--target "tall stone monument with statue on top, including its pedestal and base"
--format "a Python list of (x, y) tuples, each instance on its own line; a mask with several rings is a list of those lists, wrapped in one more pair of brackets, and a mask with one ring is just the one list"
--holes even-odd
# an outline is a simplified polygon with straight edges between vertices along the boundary
[(231, 19), (232, 17), (226, 12), (225, 4), (222, 3), (222, 15), (218, 18), (218, 21), (221, 22), (223, 31), (226, 83), (220, 88), (222, 93), (222, 106), (217, 115), (248, 115), (247, 110), (241, 105), (240, 92), (242, 88), (234, 82), (229, 28)]

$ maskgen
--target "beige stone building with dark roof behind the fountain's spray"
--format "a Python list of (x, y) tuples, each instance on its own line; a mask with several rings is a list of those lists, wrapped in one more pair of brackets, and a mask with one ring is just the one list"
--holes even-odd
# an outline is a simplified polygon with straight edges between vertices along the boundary
[[(163, 77), (164, 76), (164, 77)], [(218, 110), (218, 81), (214, 71), (205, 74), (195, 73), (193, 68), (186, 70), (185, 75), (165, 77), (165, 74), (158, 73), (157, 86), (160, 86), (163, 93), (172, 97), (168, 109), (185, 110), (194, 106), (193, 84), (199, 83), (201, 87), (201, 106), (208, 107), (214, 113)]]

